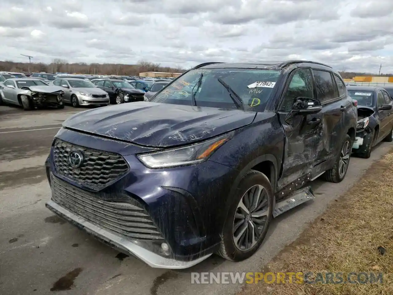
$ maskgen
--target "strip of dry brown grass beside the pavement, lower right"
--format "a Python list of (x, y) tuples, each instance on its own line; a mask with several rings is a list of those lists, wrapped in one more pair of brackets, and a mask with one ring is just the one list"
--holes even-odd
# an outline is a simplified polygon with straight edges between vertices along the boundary
[[(239, 295), (393, 294), (393, 152), (282, 251), (263, 272), (383, 273), (376, 284), (250, 284)], [(378, 247), (386, 253), (378, 253)], [(288, 282), (288, 280), (286, 280)]]

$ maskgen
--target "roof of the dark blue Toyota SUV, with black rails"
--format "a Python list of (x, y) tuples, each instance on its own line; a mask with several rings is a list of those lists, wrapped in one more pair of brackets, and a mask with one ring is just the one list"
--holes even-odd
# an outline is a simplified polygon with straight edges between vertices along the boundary
[[(288, 66), (299, 67), (309, 66), (324, 70), (334, 71), (331, 66), (316, 61), (288, 60), (288, 61), (243, 61), (239, 63), (202, 63), (194, 67), (196, 68), (257, 68), (270, 70), (283, 70)], [(336, 71), (334, 71), (336, 72)]]

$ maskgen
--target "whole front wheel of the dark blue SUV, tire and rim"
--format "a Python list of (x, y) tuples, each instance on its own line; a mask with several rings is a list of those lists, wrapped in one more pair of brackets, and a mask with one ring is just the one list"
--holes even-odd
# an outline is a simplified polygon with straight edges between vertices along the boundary
[(261, 246), (273, 214), (274, 193), (263, 173), (250, 170), (237, 187), (217, 254), (231, 261), (251, 257)]

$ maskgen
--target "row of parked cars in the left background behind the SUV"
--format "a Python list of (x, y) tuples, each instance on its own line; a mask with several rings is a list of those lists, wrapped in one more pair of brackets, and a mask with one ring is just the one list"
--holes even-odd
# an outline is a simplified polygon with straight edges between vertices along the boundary
[(168, 81), (123, 79), (86, 79), (66, 75), (46, 83), (36, 77), (8, 78), (0, 82), (0, 103), (21, 105), (25, 110), (55, 106), (64, 103), (73, 107), (85, 105), (106, 106), (150, 98)]

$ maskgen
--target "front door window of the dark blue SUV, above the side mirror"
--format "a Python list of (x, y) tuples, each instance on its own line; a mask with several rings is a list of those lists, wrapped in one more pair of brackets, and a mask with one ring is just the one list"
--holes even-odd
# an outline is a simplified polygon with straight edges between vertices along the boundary
[(314, 98), (310, 69), (296, 70), (285, 91), (283, 102), (279, 110), (283, 112), (292, 110), (294, 101), (298, 97)]

